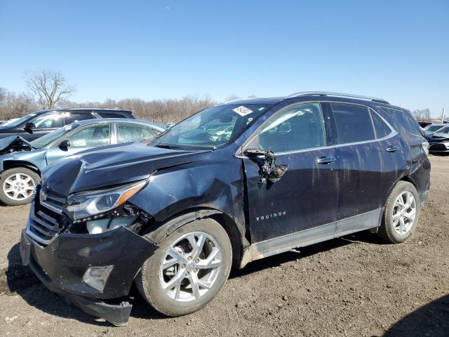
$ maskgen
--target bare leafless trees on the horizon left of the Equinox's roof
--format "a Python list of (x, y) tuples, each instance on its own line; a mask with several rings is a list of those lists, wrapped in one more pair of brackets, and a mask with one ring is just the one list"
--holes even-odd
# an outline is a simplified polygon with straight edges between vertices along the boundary
[(69, 107), (118, 107), (130, 110), (138, 119), (161, 123), (177, 122), (215, 104), (209, 95), (187, 95), (181, 99), (105, 100), (105, 102), (73, 102), (69, 98), (76, 92), (61, 72), (40, 70), (27, 72), (28, 93), (11, 93), (0, 88), (0, 119), (13, 119), (36, 110)]

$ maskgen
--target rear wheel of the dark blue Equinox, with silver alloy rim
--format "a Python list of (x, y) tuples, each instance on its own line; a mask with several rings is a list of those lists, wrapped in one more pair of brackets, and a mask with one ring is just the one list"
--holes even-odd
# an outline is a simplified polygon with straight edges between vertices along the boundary
[[(413, 202), (410, 204), (410, 207), (407, 209), (407, 195), (413, 196)], [(401, 199), (404, 203), (404, 206), (400, 205), (401, 199), (398, 199), (401, 196)], [(410, 200), (412, 198), (410, 197)], [(415, 218), (413, 222), (410, 220), (412, 210), (415, 209)], [(401, 211), (405, 209), (405, 216), (401, 216)], [(410, 218), (409, 218), (410, 217)], [(403, 223), (401, 223), (401, 218), (403, 219)], [(413, 184), (408, 183), (407, 181), (399, 181), (394, 189), (391, 191), (387, 204), (385, 205), (384, 215), (382, 216), (382, 224), (380, 225), (379, 232), (377, 233), (380, 238), (384, 241), (389, 242), (391, 244), (398, 244), (406, 241), (410, 235), (415, 232), (415, 228), (417, 226), (418, 220), (420, 218), (420, 196)]]

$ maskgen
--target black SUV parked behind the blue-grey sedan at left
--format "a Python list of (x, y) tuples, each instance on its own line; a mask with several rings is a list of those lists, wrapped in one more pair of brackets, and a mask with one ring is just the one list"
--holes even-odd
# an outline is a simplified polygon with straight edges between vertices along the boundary
[(95, 118), (134, 117), (130, 111), (117, 109), (74, 108), (65, 110), (40, 110), (1, 125), (0, 138), (20, 136), (29, 141), (35, 140), (74, 121)]

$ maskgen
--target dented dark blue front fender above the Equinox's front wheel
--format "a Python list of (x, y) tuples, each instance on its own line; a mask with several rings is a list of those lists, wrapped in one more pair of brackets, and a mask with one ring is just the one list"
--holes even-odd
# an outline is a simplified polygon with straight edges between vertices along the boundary
[(144, 190), (128, 201), (157, 223), (192, 209), (225, 213), (245, 232), (243, 171), (239, 159), (190, 163), (156, 171)]

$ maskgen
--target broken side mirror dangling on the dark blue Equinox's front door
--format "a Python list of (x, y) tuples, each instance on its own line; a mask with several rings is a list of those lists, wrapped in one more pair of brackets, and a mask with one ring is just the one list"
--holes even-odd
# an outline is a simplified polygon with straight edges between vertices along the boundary
[(262, 159), (262, 162), (258, 163), (260, 167), (260, 184), (266, 184), (267, 181), (276, 183), (288, 169), (288, 165), (276, 164), (276, 155), (271, 150), (248, 149), (243, 154), (250, 159)]

